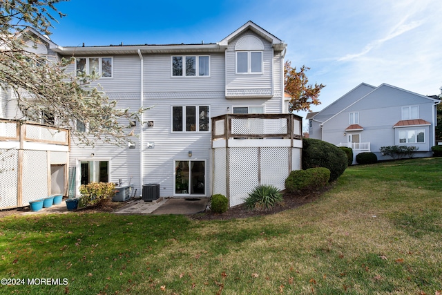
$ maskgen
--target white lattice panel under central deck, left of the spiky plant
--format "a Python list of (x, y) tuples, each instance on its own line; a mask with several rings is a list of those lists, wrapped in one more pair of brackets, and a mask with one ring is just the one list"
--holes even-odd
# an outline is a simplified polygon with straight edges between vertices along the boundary
[(230, 206), (242, 204), (258, 185), (258, 148), (230, 148)]

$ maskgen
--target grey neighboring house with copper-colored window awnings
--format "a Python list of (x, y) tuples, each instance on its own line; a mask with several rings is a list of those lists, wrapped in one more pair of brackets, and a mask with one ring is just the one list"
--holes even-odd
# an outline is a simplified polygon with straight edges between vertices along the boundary
[(436, 105), (439, 99), (395, 86), (365, 83), (343, 95), (318, 113), (309, 113), (309, 136), (338, 146), (349, 146), (354, 156), (375, 153), (381, 146), (416, 146), (415, 157), (432, 155)]

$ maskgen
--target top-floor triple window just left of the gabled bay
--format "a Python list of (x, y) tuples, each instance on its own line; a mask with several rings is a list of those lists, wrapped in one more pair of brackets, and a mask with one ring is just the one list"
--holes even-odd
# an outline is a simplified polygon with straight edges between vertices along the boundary
[(209, 55), (173, 56), (172, 76), (209, 76)]

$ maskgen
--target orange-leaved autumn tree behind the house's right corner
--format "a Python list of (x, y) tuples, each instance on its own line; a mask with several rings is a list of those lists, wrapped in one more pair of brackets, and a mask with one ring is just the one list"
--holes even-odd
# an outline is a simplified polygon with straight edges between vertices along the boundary
[(291, 62), (286, 61), (284, 64), (284, 84), (285, 93), (290, 95), (289, 113), (293, 111), (310, 111), (310, 106), (320, 104), (318, 99), (320, 90), (325, 87), (323, 84), (313, 86), (307, 84), (309, 79), (305, 72), (309, 70), (307, 66), (302, 66), (299, 72), (296, 67), (291, 67)]

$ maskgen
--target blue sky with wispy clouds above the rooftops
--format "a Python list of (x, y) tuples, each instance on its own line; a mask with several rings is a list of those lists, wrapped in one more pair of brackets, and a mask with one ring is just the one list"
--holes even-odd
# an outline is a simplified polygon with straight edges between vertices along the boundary
[(216, 43), (251, 20), (288, 44), (292, 66), (311, 68), (309, 82), (326, 85), (312, 111), (362, 82), (441, 93), (441, 0), (72, 0), (57, 8), (67, 14), (50, 36), (60, 46)]

